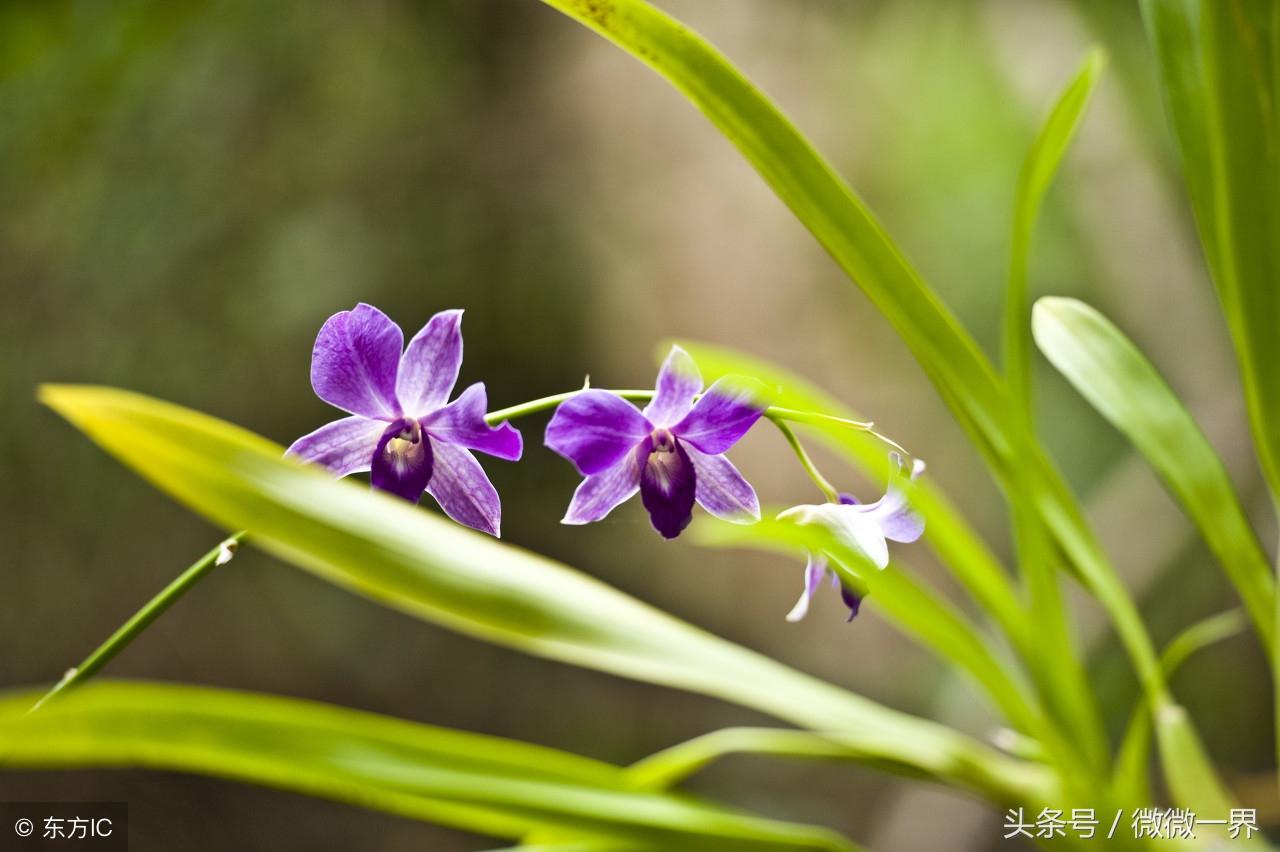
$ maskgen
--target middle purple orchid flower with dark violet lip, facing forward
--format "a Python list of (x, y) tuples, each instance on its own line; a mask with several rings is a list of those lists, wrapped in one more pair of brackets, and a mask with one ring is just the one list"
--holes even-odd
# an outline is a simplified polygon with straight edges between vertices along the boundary
[(547, 425), (547, 446), (586, 477), (562, 523), (599, 521), (636, 491), (666, 539), (689, 526), (694, 503), (728, 521), (758, 521), (755, 490), (724, 453), (764, 407), (724, 379), (695, 403), (701, 389), (694, 359), (672, 347), (643, 412), (607, 390), (584, 390), (561, 404)]

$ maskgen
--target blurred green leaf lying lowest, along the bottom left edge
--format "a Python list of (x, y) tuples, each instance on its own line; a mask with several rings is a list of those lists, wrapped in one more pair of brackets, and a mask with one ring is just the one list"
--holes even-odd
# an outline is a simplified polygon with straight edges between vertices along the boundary
[(0, 697), (9, 769), (146, 768), (230, 778), (518, 838), (543, 828), (660, 848), (850, 849), (824, 829), (634, 791), (616, 766), (342, 707), (99, 682), (28, 713)]

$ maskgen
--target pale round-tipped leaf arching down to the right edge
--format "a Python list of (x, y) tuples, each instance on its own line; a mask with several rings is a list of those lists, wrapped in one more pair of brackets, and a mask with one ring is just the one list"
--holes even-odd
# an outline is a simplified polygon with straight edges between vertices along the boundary
[(1142, 352), (1082, 302), (1036, 304), (1036, 343), (1068, 381), (1133, 441), (1196, 522), (1268, 652), (1275, 581), (1217, 453)]

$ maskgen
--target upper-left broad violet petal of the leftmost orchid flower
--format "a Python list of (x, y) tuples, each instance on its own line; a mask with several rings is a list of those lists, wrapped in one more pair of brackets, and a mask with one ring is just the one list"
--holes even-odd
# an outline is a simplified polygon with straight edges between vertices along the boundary
[(371, 304), (329, 317), (311, 351), (311, 386), (316, 397), (352, 414), (394, 420), (396, 372), (404, 335)]

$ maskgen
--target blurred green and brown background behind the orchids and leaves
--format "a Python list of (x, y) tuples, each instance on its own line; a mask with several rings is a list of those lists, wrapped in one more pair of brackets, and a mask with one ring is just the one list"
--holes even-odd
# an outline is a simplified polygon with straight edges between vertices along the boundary
[[(1014, 183), (1038, 116), (1094, 41), (1111, 67), (1038, 232), (1033, 283), (1114, 317), (1189, 402), (1265, 541), (1265, 498), (1137, 4), (663, 3), (781, 101), (995, 354)], [(993, 545), (1004, 509), (887, 324), (664, 83), (534, 0), (0, 5), (0, 687), (78, 661), (219, 533), (35, 403), (120, 385), (280, 443), (330, 420), (315, 331), (357, 301), (412, 334), (465, 307), (462, 381), (494, 407), (644, 386), (667, 336), (740, 347), (840, 394), (913, 452)], [(1233, 606), (1128, 446), (1041, 370), (1043, 431), (1167, 638)], [(506, 537), (890, 705), (988, 736), (982, 700), (835, 596), (783, 622), (800, 567), (667, 544), (639, 505), (557, 522), (577, 481), (521, 423), (486, 461)], [(818, 495), (762, 429), (735, 452), (764, 501)], [(831, 462), (828, 462), (831, 463)], [(828, 476), (874, 496), (847, 471)], [(434, 505), (426, 510), (435, 510)], [(948, 591), (924, 546), (902, 555)], [(1082, 645), (1114, 724), (1134, 701), (1097, 610)], [(627, 762), (767, 719), (465, 640), (246, 550), (110, 674), (264, 690)], [(1175, 691), (1275, 825), (1270, 684), (1242, 637)], [(731, 759), (699, 792), (877, 849), (1001, 847), (960, 796), (818, 764)], [(157, 773), (4, 773), (0, 800), (127, 800), (138, 849), (481, 849), (431, 825)]]

